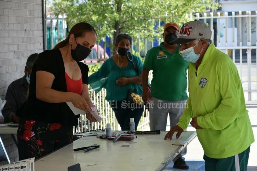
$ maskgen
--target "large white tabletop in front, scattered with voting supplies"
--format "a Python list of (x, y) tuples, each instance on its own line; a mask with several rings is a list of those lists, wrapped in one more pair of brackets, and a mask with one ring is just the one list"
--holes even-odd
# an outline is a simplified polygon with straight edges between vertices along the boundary
[[(96, 136), (82, 137), (38, 159), (35, 162), (35, 171), (64, 171), (68, 166), (77, 163), (80, 163), (81, 171), (163, 170), (196, 137), (196, 132), (183, 132), (179, 139), (176, 139), (174, 134), (170, 141), (164, 140), (166, 134), (167, 132), (161, 132), (158, 135), (134, 135), (135, 138), (132, 141), (117, 141), (116, 143)], [(74, 148), (93, 144), (100, 144), (100, 148), (88, 152), (73, 151)]]

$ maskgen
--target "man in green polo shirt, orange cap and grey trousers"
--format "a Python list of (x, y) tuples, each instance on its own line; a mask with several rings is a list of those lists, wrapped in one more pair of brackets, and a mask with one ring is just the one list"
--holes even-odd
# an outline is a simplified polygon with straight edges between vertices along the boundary
[[(165, 131), (169, 114), (170, 127), (175, 126), (183, 114), (186, 99), (187, 77), (189, 62), (179, 55), (178, 44), (169, 43), (179, 35), (176, 23), (166, 23), (162, 37), (164, 42), (151, 48), (145, 57), (142, 70), (143, 101), (153, 101), (149, 107), (150, 130)], [(153, 70), (151, 93), (147, 90), (148, 73)], [(174, 168), (188, 169), (183, 150), (174, 161)]]

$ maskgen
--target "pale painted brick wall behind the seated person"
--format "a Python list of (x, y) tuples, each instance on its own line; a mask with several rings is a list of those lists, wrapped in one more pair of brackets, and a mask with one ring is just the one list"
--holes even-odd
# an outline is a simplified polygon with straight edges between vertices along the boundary
[[(24, 76), (27, 57), (43, 51), (42, 0), (0, 0), (0, 97)], [(1, 128), (0, 128), (1, 129)], [(18, 150), (9, 134), (1, 134), (11, 162)]]

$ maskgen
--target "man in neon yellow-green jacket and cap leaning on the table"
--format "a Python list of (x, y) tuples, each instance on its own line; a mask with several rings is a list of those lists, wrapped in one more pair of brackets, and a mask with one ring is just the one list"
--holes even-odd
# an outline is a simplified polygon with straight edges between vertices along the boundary
[[(187, 108), (166, 139), (176, 138), (190, 123), (204, 149), (206, 171), (246, 171), (254, 142), (237, 68), (215, 48), (212, 31), (202, 21), (185, 23), (178, 39), (182, 57), (190, 62)], [(190, 122), (191, 120), (191, 122)]]

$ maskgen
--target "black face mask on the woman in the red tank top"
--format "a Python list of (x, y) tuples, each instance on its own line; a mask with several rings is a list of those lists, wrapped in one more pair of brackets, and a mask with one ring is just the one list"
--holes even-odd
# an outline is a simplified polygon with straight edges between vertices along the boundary
[[(77, 41), (76, 41), (76, 43), (77, 43)], [(75, 61), (82, 61), (83, 59), (86, 59), (88, 57), (88, 55), (90, 54), (90, 52), (91, 52), (91, 49), (89, 49), (85, 46), (82, 46), (78, 43), (77, 43), (77, 47), (74, 50), (72, 49), (72, 45), (71, 45), (71, 57)]]

